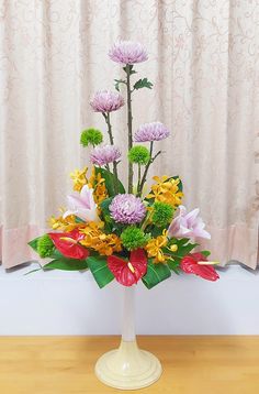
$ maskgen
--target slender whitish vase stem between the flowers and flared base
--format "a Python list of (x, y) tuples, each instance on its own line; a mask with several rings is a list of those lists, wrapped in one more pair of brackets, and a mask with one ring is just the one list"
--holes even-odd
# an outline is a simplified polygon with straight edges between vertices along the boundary
[(122, 340), (132, 342), (135, 335), (135, 286), (125, 287), (123, 295)]

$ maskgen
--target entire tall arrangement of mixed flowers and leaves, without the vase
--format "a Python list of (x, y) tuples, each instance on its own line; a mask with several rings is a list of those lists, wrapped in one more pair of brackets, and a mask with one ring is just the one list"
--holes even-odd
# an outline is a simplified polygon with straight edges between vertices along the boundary
[[(147, 78), (133, 83), (137, 74), (135, 64), (147, 61), (147, 52), (139, 43), (124, 41), (114, 44), (109, 56), (122, 65), (125, 77), (115, 79), (116, 91), (98, 91), (90, 106), (104, 118), (110, 143), (103, 144), (103, 133), (97, 129), (82, 131), (81, 145), (92, 147), (91, 173), (85, 167), (70, 174), (75, 193), (67, 197), (67, 209), (49, 219), (54, 231), (29, 244), (42, 259), (48, 259), (41, 269), (90, 270), (100, 287), (115, 278), (124, 286), (142, 280), (151, 288), (170, 277), (171, 272), (181, 271), (216, 281), (214, 262), (207, 261), (210, 252), (192, 252), (198, 245), (195, 239), (210, 239), (210, 234), (199, 209), (188, 212), (182, 205), (181, 179), (155, 176), (150, 191), (144, 191), (148, 169), (161, 154), (155, 151), (155, 144), (170, 133), (159, 121), (142, 124), (133, 132), (133, 96), (139, 89), (153, 88)], [(123, 88), (126, 100), (121, 95)], [(123, 157), (114, 144), (111, 114), (125, 102), (127, 190), (119, 179)]]

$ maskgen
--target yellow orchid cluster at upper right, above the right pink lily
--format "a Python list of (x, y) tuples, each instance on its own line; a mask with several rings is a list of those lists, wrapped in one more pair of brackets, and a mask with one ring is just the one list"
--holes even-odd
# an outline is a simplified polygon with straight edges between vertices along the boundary
[(154, 198), (155, 203), (170, 204), (173, 208), (181, 204), (183, 193), (179, 189), (180, 179), (170, 178), (167, 175), (154, 176), (156, 184), (151, 186), (151, 193), (146, 198)]

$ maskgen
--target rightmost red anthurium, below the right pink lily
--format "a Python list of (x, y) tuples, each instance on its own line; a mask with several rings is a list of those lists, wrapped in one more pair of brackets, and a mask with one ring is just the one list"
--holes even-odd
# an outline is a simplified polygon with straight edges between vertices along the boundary
[(216, 281), (219, 278), (215, 269), (209, 264), (199, 264), (199, 262), (207, 261), (201, 253), (190, 253), (181, 261), (181, 269), (187, 274), (195, 274), (207, 281)]

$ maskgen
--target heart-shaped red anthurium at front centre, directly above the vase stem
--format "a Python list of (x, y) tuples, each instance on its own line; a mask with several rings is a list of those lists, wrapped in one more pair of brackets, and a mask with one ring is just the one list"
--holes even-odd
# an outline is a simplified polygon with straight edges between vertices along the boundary
[(119, 283), (123, 286), (132, 286), (147, 272), (147, 258), (143, 249), (136, 249), (131, 252), (130, 261), (110, 255), (108, 266)]

